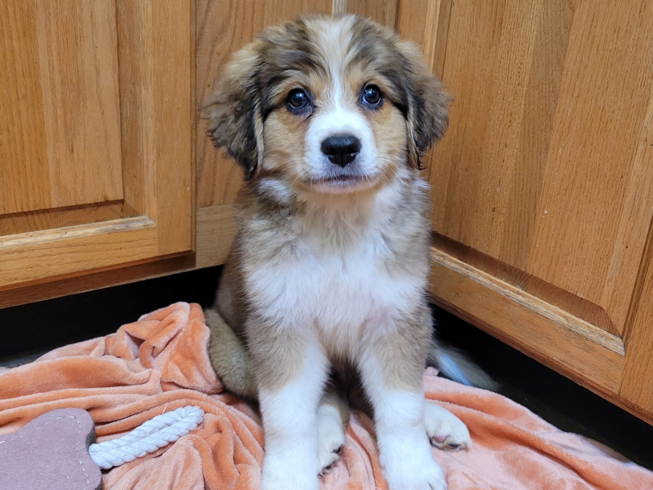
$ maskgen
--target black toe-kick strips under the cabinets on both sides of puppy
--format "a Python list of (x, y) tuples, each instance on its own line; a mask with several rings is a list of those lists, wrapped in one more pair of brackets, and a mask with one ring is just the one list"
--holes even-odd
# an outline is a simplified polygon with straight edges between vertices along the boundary
[[(219, 267), (0, 310), (0, 365), (116, 331), (176, 301), (208, 306)], [(455, 316), (436, 310), (440, 337), (467, 351), (502, 393), (564, 431), (594, 438), (653, 470), (653, 426)], [(1, 397), (0, 393), (0, 397)]]

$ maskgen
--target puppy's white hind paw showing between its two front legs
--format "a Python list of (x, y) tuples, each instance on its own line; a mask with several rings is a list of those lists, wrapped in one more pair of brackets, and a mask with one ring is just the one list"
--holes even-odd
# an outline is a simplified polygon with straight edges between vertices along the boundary
[(328, 473), (340, 459), (345, 445), (345, 431), (349, 425), (349, 405), (336, 385), (328, 385), (317, 409), (318, 459), (322, 470)]

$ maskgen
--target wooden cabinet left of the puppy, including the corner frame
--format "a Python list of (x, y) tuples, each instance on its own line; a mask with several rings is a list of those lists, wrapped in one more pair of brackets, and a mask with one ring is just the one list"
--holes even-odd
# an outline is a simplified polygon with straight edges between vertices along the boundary
[(263, 27), (342, 0), (0, 5), (0, 308), (218, 265), (242, 175), (198, 108)]

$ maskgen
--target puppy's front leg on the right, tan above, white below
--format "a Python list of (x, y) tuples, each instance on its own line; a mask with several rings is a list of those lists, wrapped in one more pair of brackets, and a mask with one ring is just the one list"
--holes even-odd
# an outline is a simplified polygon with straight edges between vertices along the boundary
[(422, 374), (428, 347), (426, 312), (382, 325), (366, 342), (358, 367), (374, 409), (379, 459), (389, 490), (444, 490), (424, 425)]

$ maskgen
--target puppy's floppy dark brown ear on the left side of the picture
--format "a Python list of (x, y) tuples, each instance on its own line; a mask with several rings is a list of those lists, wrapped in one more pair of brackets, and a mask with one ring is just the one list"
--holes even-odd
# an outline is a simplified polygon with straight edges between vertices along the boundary
[(257, 84), (260, 57), (256, 42), (247, 44), (223, 69), (214, 93), (200, 108), (210, 121), (208, 135), (216, 148), (244, 169), (245, 178), (254, 176), (263, 155), (261, 97)]

